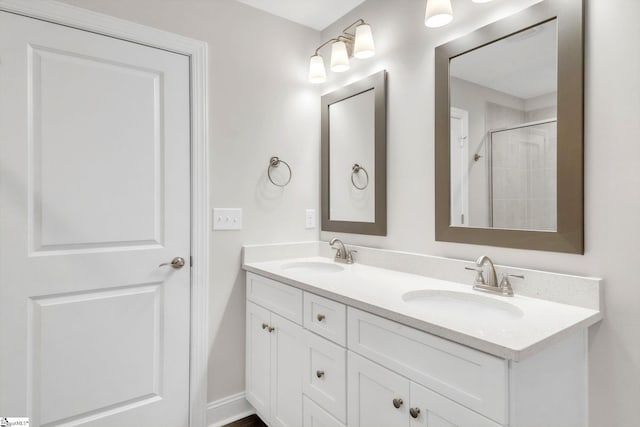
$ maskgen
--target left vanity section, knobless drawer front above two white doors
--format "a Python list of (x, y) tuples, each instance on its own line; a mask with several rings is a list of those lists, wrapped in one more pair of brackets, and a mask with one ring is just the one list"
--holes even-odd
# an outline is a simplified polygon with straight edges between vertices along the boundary
[(247, 400), (271, 427), (300, 427), (303, 329), (291, 319), (302, 318), (302, 291), (253, 276), (247, 298)]

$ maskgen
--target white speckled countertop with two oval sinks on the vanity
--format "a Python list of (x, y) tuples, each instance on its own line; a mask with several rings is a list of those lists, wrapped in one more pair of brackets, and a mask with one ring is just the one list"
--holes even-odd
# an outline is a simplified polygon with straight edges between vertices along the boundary
[[(363, 264), (338, 264), (341, 271), (287, 269), (292, 262), (335, 264), (324, 257), (249, 262), (246, 271), (295, 286), (349, 306), (505, 359), (520, 361), (602, 319), (598, 310), (516, 295), (503, 297), (461, 284)], [(284, 267), (284, 268), (283, 268)], [(408, 292), (435, 295), (428, 308), (403, 299)], [(417, 292), (416, 292), (417, 291)], [(447, 309), (437, 294), (455, 292), (470, 309)], [(483, 299), (485, 298), (485, 299)], [(446, 298), (445, 298), (446, 299)], [(483, 304), (475, 307), (474, 300)], [(488, 299), (488, 300), (487, 300)], [(491, 300), (491, 301), (490, 301)], [(494, 310), (493, 308), (497, 308)], [(477, 308), (477, 309), (476, 309)], [(504, 309), (507, 310), (504, 310)]]

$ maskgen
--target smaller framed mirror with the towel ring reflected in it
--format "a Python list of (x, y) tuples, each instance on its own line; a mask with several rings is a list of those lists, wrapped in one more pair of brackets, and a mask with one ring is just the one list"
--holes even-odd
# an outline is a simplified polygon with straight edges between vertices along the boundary
[(386, 234), (386, 72), (322, 97), (322, 230)]

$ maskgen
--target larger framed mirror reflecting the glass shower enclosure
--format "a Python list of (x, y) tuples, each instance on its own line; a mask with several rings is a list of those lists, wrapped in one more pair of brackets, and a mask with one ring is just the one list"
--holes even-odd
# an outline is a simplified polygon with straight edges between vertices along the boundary
[(583, 252), (582, 1), (436, 48), (436, 240)]

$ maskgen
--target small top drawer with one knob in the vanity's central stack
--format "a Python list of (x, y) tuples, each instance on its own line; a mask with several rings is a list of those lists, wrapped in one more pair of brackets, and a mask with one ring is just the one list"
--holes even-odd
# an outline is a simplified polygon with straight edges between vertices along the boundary
[(339, 302), (305, 292), (304, 327), (341, 346), (346, 346), (347, 308)]

